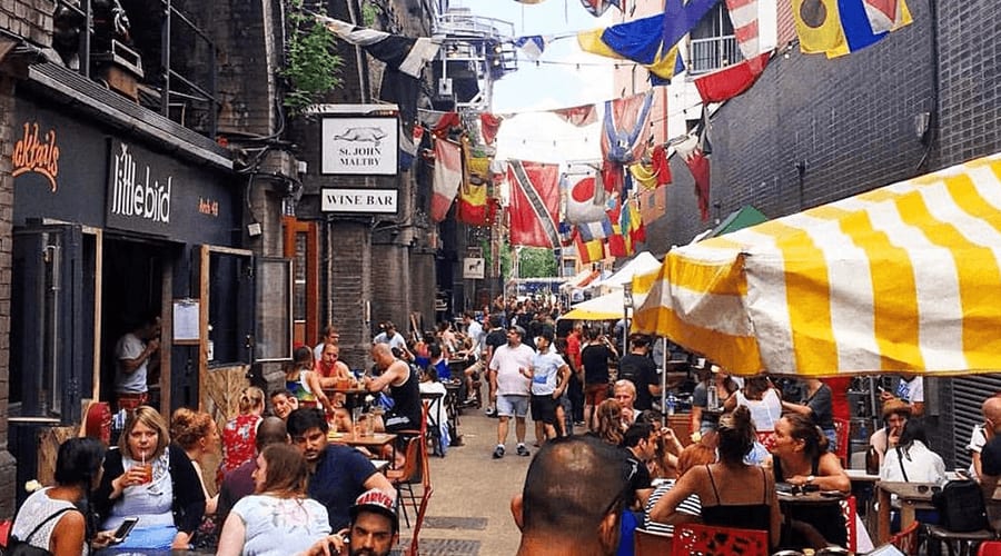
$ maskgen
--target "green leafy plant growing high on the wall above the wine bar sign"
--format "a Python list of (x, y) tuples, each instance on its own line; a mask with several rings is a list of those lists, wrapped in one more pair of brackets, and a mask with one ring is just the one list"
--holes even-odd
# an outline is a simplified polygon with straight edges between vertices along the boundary
[[(337, 54), (334, 34), (303, 10), (303, 0), (289, 0), (289, 8), (290, 29), (281, 75), (291, 85), (285, 96), (285, 106), (298, 113), (341, 85), (344, 61)], [(324, 10), (319, 12), (323, 14)]]

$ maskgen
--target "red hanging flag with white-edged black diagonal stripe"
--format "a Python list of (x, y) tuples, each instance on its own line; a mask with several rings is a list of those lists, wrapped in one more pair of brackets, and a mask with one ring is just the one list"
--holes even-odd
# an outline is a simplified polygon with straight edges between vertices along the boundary
[(511, 245), (559, 245), (559, 165), (511, 160)]

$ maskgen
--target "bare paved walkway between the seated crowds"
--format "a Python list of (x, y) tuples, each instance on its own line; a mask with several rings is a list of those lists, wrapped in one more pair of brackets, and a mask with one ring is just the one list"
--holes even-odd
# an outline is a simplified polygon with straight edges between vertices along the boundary
[[(435, 492), (420, 530), (422, 555), (511, 556), (521, 535), (511, 516), (511, 498), (521, 493), (529, 457), (515, 454), (514, 427), (507, 438), (507, 455), (493, 459), (497, 444), (497, 419), (482, 409), (468, 408), (459, 417), (464, 446), (452, 447), (444, 458), (432, 456)], [(535, 441), (528, 420), (527, 441)], [(410, 516), (413, 518), (413, 515)], [(403, 539), (410, 529), (402, 523)]]

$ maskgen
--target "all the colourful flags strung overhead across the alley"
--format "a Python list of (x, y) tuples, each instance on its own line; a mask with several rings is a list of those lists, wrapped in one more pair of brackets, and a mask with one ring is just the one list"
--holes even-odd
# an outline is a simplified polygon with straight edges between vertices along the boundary
[[(625, 0), (581, 1), (595, 14), (613, 6), (625, 9)], [(513, 42), (526, 58), (538, 60), (552, 41), (574, 37), (585, 51), (644, 66), (652, 82), (658, 83), (684, 69), (680, 40), (718, 1), (666, 0), (664, 12), (650, 18), (563, 36), (519, 37)], [(418, 123), (408, 128), (413, 132), (402, 130), (402, 160), (413, 160), (419, 153), (434, 165), (432, 219), (443, 221), (450, 214), (472, 226), (497, 222), (505, 217), (498, 190), (506, 181), (512, 245), (574, 245), (584, 262), (631, 256), (645, 241), (645, 222), (666, 212), (666, 191), (672, 182), (668, 157), (673, 148), (692, 173), (700, 214), (707, 220), (712, 147), (706, 107), (751, 89), (774, 56), (771, 47), (762, 48), (759, 0), (725, 2), (743, 60), (693, 80), (703, 103), (702, 122), (668, 145), (652, 145), (650, 140), (652, 89), (605, 101), (601, 117), (602, 160), (576, 165), (564, 173), (558, 165), (527, 160), (500, 165), (490, 157), (507, 115), (459, 115), (414, 107), (413, 120)], [(792, 11), (801, 51), (829, 58), (874, 44), (912, 22), (905, 0), (792, 0)], [(423, 67), (438, 54), (439, 44), (432, 39), (406, 38), (324, 16), (317, 18), (338, 38), (385, 61), (387, 72), (402, 76), (404, 81), (416, 81)], [(578, 127), (599, 119), (598, 103), (549, 112)]]

